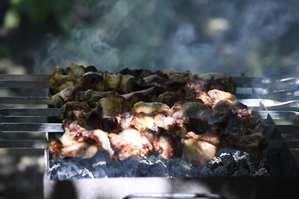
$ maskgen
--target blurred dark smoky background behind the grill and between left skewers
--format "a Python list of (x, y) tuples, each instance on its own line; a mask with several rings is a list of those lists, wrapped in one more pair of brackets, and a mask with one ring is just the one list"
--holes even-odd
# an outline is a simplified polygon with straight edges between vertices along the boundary
[[(171, 67), (294, 77), (299, 75), (298, 30), (296, 0), (4, 0), (0, 73), (49, 75), (57, 65), (76, 62), (110, 71)], [(47, 90), (0, 88), (0, 96), (46, 95)], [(24, 107), (1, 105), (7, 106)], [(0, 117), (0, 122), (32, 118)], [(44, 136), (0, 133), (1, 139)], [(43, 150), (1, 149), (0, 199), (42, 198), (43, 161)]]

